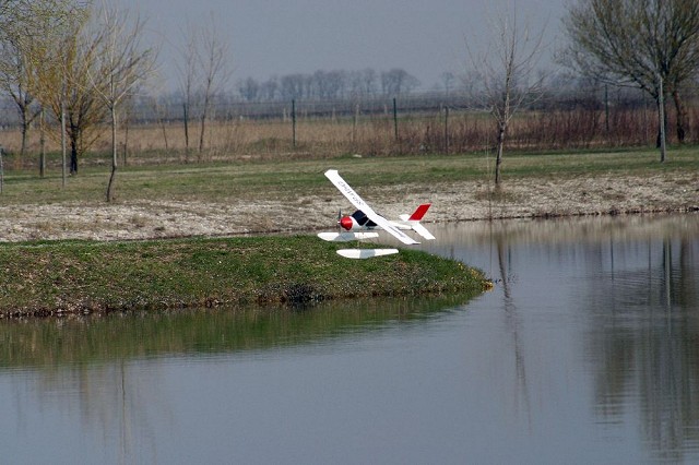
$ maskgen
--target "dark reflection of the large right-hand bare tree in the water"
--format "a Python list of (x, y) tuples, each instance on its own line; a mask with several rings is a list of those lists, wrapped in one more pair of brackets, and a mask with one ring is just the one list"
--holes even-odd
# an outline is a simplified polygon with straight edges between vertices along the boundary
[(647, 263), (633, 260), (641, 245), (590, 246), (604, 262), (587, 306), (606, 322), (588, 339), (596, 403), (606, 421), (620, 421), (628, 403), (638, 403), (650, 449), (680, 461), (683, 445), (699, 441), (699, 242), (670, 234), (648, 240)]

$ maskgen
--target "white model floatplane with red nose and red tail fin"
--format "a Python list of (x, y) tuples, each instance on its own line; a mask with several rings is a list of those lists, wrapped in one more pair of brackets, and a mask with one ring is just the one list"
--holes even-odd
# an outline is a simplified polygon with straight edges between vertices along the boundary
[[(346, 242), (350, 240), (370, 239), (379, 237), (379, 234), (374, 229), (381, 228), (389, 233), (401, 242), (408, 246), (419, 243), (405, 233), (404, 229), (412, 229), (425, 239), (433, 240), (433, 236), (425, 226), (420, 225), (419, 220), (425, 216), (429, 208), (429, 203), (419, 205), (412, 215), (401, 215), (400, 222), (392, 222), (386, 219), (383, 216), (376, 213), (354, 189), (345, 182), (340, 176), (336, 169), (329, 169), (325, 171), (325, 177), (347, 198), (352, 204), (358, 210), (351, 216), (341, 216), (337, 224), (344, 231), (342, 233), (319, 233), (318, 237), (323, 240), (333, 242)], [(342, 249), (337, 250), (337, 253), (348, 259), (368, 259), (370, 257), (390, 255), (398, 253), (398, 249)]]

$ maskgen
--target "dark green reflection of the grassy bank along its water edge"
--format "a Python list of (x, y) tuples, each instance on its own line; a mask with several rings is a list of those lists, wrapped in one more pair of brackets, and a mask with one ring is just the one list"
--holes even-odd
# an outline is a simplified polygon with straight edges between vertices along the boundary
[(410, 323), (466, 296), (321, 302), (308, 309), (249, 308), (29, 319), (0, 324), (0, 370), (86, 367), (110, 360), (206, 355), (308, 345)]

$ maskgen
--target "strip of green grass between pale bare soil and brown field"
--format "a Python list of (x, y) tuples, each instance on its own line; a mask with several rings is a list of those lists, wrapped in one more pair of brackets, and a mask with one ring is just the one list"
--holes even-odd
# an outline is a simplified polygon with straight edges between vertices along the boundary
[[(5, 172), (2, 204), (47, 204), (56, 202), (104, 202), (109, 169), (85, 163), (78, 176), (61, 186), (60, 170), (54, 168), (40, 179), (34, 171)], [(333, 187), (322, 172), (339, 169), (355, 188), (406, 184), (431, 186), (462, 180), (485, 181), (493, 176), (494, 154), (423, 155), (401, 157), (351, 156), (332, 159), (230, 160), (189, 165), (145, 165), (120, 168), (117, 175), (118, 201), (181, 200), (228, 202), (232, 200), (294, 200), (304, 196), (331, 196)], [(652, 176), (699, 172), (699, 148), (668, 152), (659, 163), (653, 150), (576, 153), (506, 153), (502, 175), (507, 179), (570, 178), (581, 175)]]

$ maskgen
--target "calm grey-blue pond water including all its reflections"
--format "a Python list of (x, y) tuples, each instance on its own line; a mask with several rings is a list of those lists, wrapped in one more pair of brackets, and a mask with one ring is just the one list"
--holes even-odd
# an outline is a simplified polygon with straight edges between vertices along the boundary
[(0, 462), (699, 461), (699, 216), (430, 229), (495, 289), (0, 322)]

